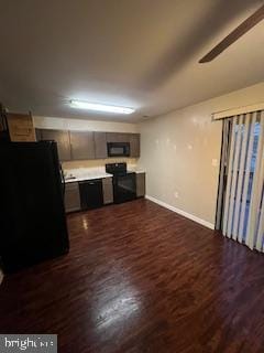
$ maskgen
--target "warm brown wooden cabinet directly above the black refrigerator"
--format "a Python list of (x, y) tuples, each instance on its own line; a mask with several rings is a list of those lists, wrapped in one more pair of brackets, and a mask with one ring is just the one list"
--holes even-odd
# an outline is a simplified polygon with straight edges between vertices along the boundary
[(36, 140), (31, 114), (8, 113), (7, 120), (11, 141), (30, 142)]

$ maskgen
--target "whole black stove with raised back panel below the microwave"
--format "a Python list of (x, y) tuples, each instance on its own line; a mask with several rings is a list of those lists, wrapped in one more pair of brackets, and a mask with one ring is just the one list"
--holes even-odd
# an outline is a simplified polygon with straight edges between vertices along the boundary
[(135, 173), (128, 171), (127, 163), (108, 163), (106, 164), (106, 172), (113, 175), (114, 203), (136, 199)]

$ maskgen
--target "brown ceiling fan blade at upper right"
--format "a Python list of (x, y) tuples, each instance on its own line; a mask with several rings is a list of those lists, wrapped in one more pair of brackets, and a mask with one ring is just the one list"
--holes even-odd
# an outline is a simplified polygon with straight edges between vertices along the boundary
[(243, 34), (249, 32), (253, 26), (264, 19), (264, 6), (250, 15), (244, 22), (242, 22), (235, 30), (233, 30), (228, 36), (226, 36), (218, 45), (216, 45), (208, 54), (206, 54), (199, 63), (208, 63), (226, 51), (231, 44), (233, 44)]

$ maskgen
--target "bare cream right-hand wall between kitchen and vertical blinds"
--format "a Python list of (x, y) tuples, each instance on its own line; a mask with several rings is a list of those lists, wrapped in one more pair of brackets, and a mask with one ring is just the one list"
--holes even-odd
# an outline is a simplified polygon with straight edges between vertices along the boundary
[(213, 226), (222, 124), (211, 114), (261, 101), (264, 83), (141, 124), (146, 194)]

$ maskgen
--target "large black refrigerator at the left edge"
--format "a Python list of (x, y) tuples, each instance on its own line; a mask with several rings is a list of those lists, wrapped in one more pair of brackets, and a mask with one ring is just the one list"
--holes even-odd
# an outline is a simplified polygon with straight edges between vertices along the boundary
[(68, 249), (64, 180), (56, 142), (0, 143), (3, 271), (18, 271)]

